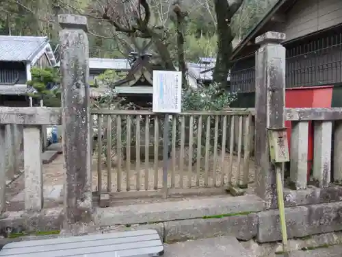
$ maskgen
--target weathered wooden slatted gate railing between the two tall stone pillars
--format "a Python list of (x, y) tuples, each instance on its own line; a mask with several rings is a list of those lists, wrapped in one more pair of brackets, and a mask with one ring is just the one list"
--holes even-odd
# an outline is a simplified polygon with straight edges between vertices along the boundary
[(97, 193), (130, 197), (246, 188), (254, 170), (248, 110), (170, 114), (164, 171), (163, 116), (136, 110), (92, 110), (92, 115), (98, 130)]

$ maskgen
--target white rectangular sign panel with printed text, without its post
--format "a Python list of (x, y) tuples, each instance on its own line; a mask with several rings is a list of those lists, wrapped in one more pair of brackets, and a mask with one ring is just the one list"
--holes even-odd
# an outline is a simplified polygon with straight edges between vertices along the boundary
[(181, 71), (153, 71), (153, 112), (181, 112)]

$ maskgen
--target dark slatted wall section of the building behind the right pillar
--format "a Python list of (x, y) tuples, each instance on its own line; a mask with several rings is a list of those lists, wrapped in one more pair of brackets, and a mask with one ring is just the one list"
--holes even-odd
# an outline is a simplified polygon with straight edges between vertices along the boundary
[[(342, 2), (342, 1), (341, 1)], [(335, 85), (342, 82), (342, 26), (284, 43), (287, 49), (286, 87)], [(254, 54), (233, 63), (231, 88), (255, 91)]]

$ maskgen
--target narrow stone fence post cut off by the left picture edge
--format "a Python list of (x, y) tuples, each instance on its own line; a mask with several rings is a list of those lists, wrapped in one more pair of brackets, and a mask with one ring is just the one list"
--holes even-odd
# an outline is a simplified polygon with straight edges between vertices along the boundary
[(6, 208), (5, 125), (0, 124), (0, 219)]

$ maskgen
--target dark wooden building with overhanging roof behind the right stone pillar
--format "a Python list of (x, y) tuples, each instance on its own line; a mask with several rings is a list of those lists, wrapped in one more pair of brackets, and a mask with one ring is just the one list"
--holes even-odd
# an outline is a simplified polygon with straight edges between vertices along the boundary
[(254, 107), (254, 40), (283, 32), (287, 49), (286, 87), (333, 86), (332, 107), (342, 107), (342, 1), (279, 0), (233, 51), (231, 90), (235, 107)]

